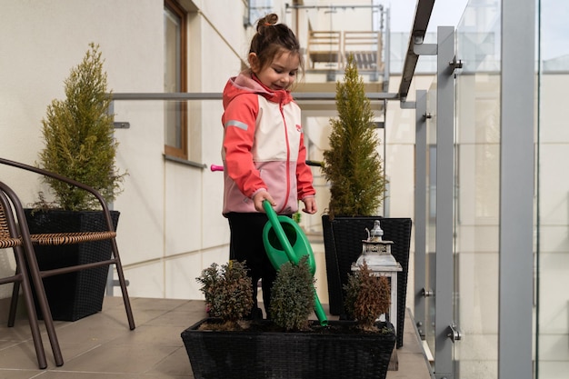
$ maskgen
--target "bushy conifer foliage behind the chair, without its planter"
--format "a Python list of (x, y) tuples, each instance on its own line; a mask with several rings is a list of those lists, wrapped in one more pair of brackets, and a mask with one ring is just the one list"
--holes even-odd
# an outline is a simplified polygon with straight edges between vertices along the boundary
[[(83, 61), (65, 79), (65, 100), (53, 100), (42, 120), (45, 148), (39, 154), (42, 168), (89, 185), (107, 202), (122, 191), (125, 174), (115, 167), (118, 143), (114, 115), (108, 113), (104, 60), (99, 45), (89, 44)], [(55, 203), (66, 210), (94, 209), (96, 199), (85, 191), (45, 178)]]

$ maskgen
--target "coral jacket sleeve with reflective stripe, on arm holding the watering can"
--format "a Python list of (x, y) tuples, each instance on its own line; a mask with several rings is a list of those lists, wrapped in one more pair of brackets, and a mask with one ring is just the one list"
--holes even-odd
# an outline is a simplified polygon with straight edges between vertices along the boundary
[(250, 198), (259, 190), (266, 190), (251, 154), (258, 109), (257, 95), (239, 95), (226, 106), (222, 117), (225, 171), (239, 190)]

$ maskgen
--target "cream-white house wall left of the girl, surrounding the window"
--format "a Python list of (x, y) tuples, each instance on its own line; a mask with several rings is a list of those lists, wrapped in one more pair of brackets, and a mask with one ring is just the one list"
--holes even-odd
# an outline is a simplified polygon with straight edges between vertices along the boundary
[[(248, 40), (243, 4), (205, 5), (203, 13), (192, 14), (189, 86), (191, 92), (221, 92), (229, 75), (240, 68), (243, 49), (236, 46)], [(3, 2), (2, 7), (3, 157), (35, 164), (43, 148), (41, 120), (46, 107), (52, 99), (64, 97), (63, 82), (90, 42), (100, 45), (109, 90), (164, 91), (163, 0), (24, 0)], [(165, 161), (162, 109), (161, 102), (115, 102), (115, 120), (130, 123), (130, 129), (115, 131), (120, 144), (117, 165), (129, 173), (125, 191), (114, 204), (121, 211), (118, 244), (131, 295), (197, 298), (201, 296), (195, 277), (201, 268), (227, 255), (222, 175)], [(202, 115), (192, 120), (198, 131), (207, 128), (206, 138), (192, 136), (198, 143), (198, 162), (219, 163), (220, 115), (220, 102), (204, 104)], [(5, 167), (0, 170), (24, 203), (35, 201), (41, 187), (34, 178)], [(13, 266), (9, 255), (2, 254), (2, 266)], [(8, 295), (6, 288), (2, 287), (3, 297)]]

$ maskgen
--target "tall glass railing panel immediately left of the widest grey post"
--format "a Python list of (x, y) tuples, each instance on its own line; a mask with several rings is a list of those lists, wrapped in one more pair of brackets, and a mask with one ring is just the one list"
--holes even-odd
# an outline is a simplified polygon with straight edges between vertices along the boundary
[(456, 29), (454, 378), (497, 378), (500, 5), (471, 1)]

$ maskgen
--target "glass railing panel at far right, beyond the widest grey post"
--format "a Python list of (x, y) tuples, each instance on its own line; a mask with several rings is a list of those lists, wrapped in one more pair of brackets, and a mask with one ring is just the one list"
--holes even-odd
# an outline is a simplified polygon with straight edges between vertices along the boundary
[(566, 88), (569, 85), (568, 7), (562, 0), (539, 3), (537, 94), (537, 228), (535, 377), (569, 373), (569, 160)]

